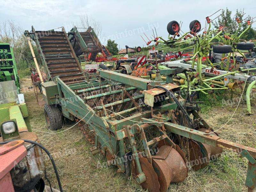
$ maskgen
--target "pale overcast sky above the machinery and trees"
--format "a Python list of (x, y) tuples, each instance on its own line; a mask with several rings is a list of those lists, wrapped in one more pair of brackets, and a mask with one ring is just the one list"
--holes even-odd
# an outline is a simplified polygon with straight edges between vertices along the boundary
[[(148, 41), (143, 32), (148, 37), (153, 35), (152, 27), (156, 27), (158, 36), (166, 38), (166, 26), (172, 20), (181, 20), (181, 30), (184, 32), (189, 30), (188, 26), (192, 20), (199, 20), (204, 28), (206, 16), (226, 7), (232, 13), (235, 13), (236, 9), (244, 8), (246, 17), (248, 14), (256, 16), (255, 0), (0, 0), (0, 18), (2, 21), (11, 19), (29, 31), (33, 25), (35, 30), (64, 26), (68, 32), (73, 27), (72, 23), (79, 20), (80, 15), (88, 14), (102, 25), (101, 43), (106, 44), (106, 39), (110, 38), (115, 40), (120, 48), (124, 48), (125, 45), (146, 46), (140, 35)], [(216, 16), (218, 13), (213, 15), (212, 19)], [(256, 27), (256, 22), (253, 27)]]

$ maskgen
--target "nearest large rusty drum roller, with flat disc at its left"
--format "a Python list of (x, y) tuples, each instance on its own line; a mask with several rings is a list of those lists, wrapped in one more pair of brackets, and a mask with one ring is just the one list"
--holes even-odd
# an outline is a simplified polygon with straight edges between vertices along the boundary
[(182, 182), (187, 177), (187, 167), (174, 148), (164, 145), (156, 156), (152, 156), (154, 170), (158, 176), (160, 192), (167, 191), (170, 183)]

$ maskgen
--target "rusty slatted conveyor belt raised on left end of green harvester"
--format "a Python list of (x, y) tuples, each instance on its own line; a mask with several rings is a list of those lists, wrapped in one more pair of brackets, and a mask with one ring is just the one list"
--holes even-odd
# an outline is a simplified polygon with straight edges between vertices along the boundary
[(60, 76), (60, 79), (66, 83), (78, 83), (85, 80), (85, 76), (80, 74), (83, 70), (72, 52), (71, 44), (64, 31), (35, 31), (41, 47), (45, 64), (49, 70), (50, 76)]

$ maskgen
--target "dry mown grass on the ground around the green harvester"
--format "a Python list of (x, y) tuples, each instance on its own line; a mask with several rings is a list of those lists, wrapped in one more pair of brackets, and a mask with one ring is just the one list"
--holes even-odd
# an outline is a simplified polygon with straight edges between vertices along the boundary
[[(24, 87), (31, 87), (30, 79), (21, 82)], [(43, 106), (38, 106), (33, 89), (27, 90), (25, 100), (28, 106), (32, 128), (48, 132), (44, 120)], [(40, 95), (40, 97), (41, 95)], [(255, 111), (255, 103), (252, 103)], [(220, 137), (233, 142), (256, 147), (255, 115), (245, 116), (246, 105), (242, 103), (232, 120), (220, 131)], [(235, 107), (213, 108), (207, 114), (201, 114), (214, 129), (227, 122)], [(64, 125), (68, 128), (72, 123)], [(36, 132), (36, 131), (35, 131)], [(124, 174), (117, 173), (117, 168), (97, 168), (98, 162), (105, 162), (100, 155), (92, 156), (88, 144), (78, 127), (58, 134), (36, 132), (41, 143), (50, 151), (56, 162), (64, 191), (142, 191), (140, 186)], [(188, 178), (181, 183), (170, 184), (168, 191), (178, 192), (242, 192), (247, 160), (225, 153), (216, 161), (210, 162), (203, 170), (188, 173)], [(54, 188), (58, 189), (57, 180), (49, 159), (45, 160), (47, 175)]]

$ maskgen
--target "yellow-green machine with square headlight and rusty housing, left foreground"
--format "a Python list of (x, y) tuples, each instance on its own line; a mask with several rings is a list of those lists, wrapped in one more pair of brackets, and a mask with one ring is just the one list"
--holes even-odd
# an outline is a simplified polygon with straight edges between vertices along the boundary
[[(20, 95), (23, 94), (17, 94), (15, 81), (0, 82), (0, 142), (19, 140), (13, 141), (12, 145), (17, 143), (19, 146), (24, 145), (27, 150), (27, 155), (21, 159), (19, 157), (17, 161), (20, 163), (15, 162), (14, 169), (11, 170), (10, 179), (14, 190), (34, 191), (36, 189), (38, 192), (43, 192), (44, 180), (42, 178), (45, 173), (43, 151), (34, 144), (21, 141), (30, 140), (39, 143), (36, 134), (31, 132), (27, 106), (24, 97)], [(8, 150), (12, 148), (13, 146)], [(2, 174), (6, 170), (1, 169), (1, 171), (3, 171)]]

